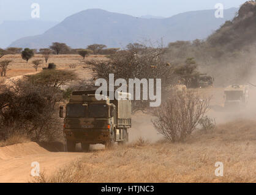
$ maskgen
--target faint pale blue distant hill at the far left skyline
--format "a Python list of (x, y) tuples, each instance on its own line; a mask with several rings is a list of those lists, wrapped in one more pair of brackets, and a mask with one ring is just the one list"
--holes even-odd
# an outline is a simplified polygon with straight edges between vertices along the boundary
[(54, 21), (30, 19), (27, 21), (4, 21), (0, 24), (0, 48), (6, 48), (18, 38), (42, 34), (58, 24)]

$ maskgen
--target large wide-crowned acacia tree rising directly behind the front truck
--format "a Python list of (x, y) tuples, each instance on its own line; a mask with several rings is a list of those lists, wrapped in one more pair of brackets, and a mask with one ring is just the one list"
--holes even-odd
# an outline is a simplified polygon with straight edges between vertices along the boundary
[[(175, 82), (173, 68), (162, 58), (164, 49), (148, 48), (127, 49), (110, 56), (109, 60), (87, 60), (91, 65), (94, 80), (102, 78), (108, 81), (109, 74), (114, 74), (115, 79), (161, 79), (162, 93), (171, 83)], [(156, 87), (156, 84), (155, 84)], [(134, 88), (135, 90), (135, 88)], [(142, 88), (140, 88), (142, 94)], [(132, 110), (145, 110), (149, 101), (132, 101)]]

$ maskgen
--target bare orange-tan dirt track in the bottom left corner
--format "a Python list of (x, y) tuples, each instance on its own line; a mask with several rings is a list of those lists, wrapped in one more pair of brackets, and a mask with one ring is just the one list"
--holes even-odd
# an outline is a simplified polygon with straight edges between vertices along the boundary
[(0, 147), (0, 182), (29, 182), (31, 163), (37, 161), (45, 174), (54, 172), (84, 153), (49, 152), (37, 143), (15, 144)]

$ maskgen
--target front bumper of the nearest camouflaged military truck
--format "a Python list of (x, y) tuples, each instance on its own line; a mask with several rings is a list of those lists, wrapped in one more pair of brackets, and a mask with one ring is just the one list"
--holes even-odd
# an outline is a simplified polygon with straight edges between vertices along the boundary
[(110, 140), (109, 129), (64, 129), (64, 137), (77, 143), (104, 144)]

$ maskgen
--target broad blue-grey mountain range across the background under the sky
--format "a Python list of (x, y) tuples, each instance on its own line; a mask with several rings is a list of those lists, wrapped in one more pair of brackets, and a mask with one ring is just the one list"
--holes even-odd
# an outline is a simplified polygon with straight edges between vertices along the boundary
[(24, 37), (10, 46), (47, 48), (52, 42), (67, 43), (72, 48), (85, 48), (100, 43), (123, 48), (128, 43), (163, 38), (167, 44), (176, 40), (195, 40), (208, 37), (225, 21), (233, 19), (237, 8), (224, 10), (224, 18), (216, 18), (216, 10), (181, 13), (170, 18), (146, 19), (101, 9), (89, 9), (64, 19), (41, 35)]

